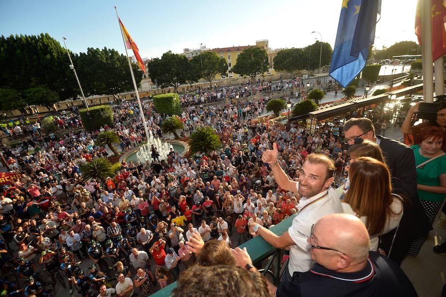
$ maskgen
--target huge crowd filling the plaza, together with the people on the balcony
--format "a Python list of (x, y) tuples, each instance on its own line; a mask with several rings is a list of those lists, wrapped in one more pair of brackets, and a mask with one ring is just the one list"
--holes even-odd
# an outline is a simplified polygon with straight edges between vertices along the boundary
[[(218, 98), (219, 90), (213, 92), (209, 96)], [(245, 280), (238, 292), (265, 285), (264, 293), (273, 294), (276, 289), (251, 267), (246, 251), (235, 248), (256, 236), (289, 254), (278, 296), (290, 296), (302, 278), (317, 284), (314, 275), (342, 278), (351, 272), (360, 282), (324, 284), (337, 286), (339, 296), (355, 290), (364, 290), (360, 296), (416, 295), (398, 265), (408, 253), (418, 253), (445, 198), (444, 120), (423, 127), (409, 148), (377, 135), (375, 119), (326, 122), (310, 134), (302, 126), (258, 120), (263, 98), (205, 108), (200, 97), (207, 95), (196, 96), (182, 111), (181, 137), (213, 127), (223, 147), (210, 154), (171, 149), (166, 156), (153, 153), (152, 160), (123, 160), (104, 181), (84, 180), (82, 164), (110, 154), (95, 145), (100, 132), (114, 131), (122, 151), (146, 140), (132, 102), (113, 107), (112, 127), (58, 137), (37, 128), (16, 148), (3, 148), (8, 171), (21, 174), (0, 196), (4, 295), (46, 296), (47, 280), (58, 286), (56, 273), (80, 296), (147, 296), (178, 279), (174, 296), (188, 296), (226, 277), (228, 284), (231, 278)], [(150, 103), (143, 107), (153, 137), (165, 138), (165, 117)], [(283, 235), (270, 230), (294, 214)], [(346, 230), (345, 221), (356, 229)], [(435, 251), (444, 253), (441, 248)], [(220, 266), (209, 269), (213, 265)], [(13, 267), (18, 284), (9, 282), (7, 267)], [(197, 274), (206, 280), (196, 283)], [(358, 289), (358, 283), (367, 286)], [(316, 285), (302, 286), (305, 292)]]

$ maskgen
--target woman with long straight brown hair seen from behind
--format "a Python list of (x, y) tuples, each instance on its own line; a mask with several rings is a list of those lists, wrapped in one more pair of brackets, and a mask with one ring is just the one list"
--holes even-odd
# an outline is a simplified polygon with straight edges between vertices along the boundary
[(396, 228), (403, 214), (402, 199), (392, 194), (386, 164), (359, 157), (350, 165), (350, 187), (342, 203), (344, 213), (356, 215), (370, 235), (370, 250), (378, 249), (378, 237)]

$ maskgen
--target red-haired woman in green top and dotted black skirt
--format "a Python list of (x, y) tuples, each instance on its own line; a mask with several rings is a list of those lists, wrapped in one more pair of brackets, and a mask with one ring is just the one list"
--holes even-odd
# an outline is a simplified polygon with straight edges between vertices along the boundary
[[(440, 127), (428, 126), (420, 130), (419, 144), (411, 148), (417, 166), (417, 190), (424, 212), (431, 224), (446, 196), (446, 154), (442, 150), (445, 132)], [(416, 256), (428, 234), (416, 236), (409, 254)]]

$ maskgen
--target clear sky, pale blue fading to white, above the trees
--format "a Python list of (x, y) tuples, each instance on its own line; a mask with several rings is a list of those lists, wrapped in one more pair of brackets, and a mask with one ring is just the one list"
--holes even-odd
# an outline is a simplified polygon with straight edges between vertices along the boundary
[[(416, 0), (382, 0), (375, 46), (416, 41)], [(49, 33), (74, 52), (113, 48), (124, 52), (113, 6), (142, 57), (172, 50), (254, 45), (304, 47), (319, 38), (332, 47), (342, 0), (0, 0), (0, 34)]]

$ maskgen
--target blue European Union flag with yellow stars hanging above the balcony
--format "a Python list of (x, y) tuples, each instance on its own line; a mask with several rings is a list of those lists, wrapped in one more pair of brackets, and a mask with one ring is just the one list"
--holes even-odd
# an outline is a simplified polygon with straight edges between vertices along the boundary
[(330, 76), (346, 88), (366, 64), (380, 0), (342, 0)]

